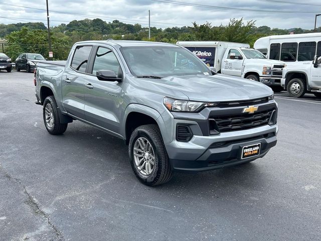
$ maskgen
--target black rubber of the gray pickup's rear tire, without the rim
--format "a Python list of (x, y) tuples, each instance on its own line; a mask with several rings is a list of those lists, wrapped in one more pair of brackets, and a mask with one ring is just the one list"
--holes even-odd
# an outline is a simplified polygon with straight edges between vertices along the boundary
[[(51, 115), (53, 118), (53, 125), (52, 126), (50, 126), (46, 121), (46, 108), (50, 107), (47, 105), (51, 105), (51, 108), (52, 108), (52, 115)], [(58, 110), (58, 106), (57, 106), (55, 97), (48, 96), (45, 99), (44, 105), (43, 105), (43, 118), (44, 118), (45, 127), (51, 135), (63, 134), (67, 130), (67, 127), (68, 127), (68, 123), (60, 123), (58, 111), (59, 110)]]

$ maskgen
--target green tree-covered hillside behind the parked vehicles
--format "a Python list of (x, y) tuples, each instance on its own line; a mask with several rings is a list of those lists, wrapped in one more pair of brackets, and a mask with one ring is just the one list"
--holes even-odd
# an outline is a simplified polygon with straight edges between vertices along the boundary
[[(185, 40), (217, 40), (249, 43), (261, 37), (311, 33), (313, 30), (300, 28), (271, 29), (268, 26), (255, 26), (255, 21), (244, 23), (243, 19), (231, 19), (228, 25), (212, 26), (211, 23), (173, 28), (150, 28), (151, 39), (148, 39), (148, 28), (140, 24), (126, 24), (114, 20), (105, 22), (101, 19), (74, 20), (69, 24), (51, 27), (52, 49), (55, 59), (66, 59), (70, 47), (78, 41), (85, 40), (145, 40), (176, 43)], [(321, 32), (321, 27), (317, 29)], [(48, 32), (43, 23), (0, 24), (0, 38), (5, 39), (5, 52), (15, 59), (22, 52), (37, 52), (48, 57)], [(1, 51), (1, 50), (0, 50)]]

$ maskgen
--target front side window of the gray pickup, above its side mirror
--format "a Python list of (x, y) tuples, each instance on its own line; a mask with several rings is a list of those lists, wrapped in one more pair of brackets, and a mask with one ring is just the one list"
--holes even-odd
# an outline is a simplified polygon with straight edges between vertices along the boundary
[(97, 70), (113, 70), (118, 75), (120, 65), (114, 53), (110, 49), (99, 47), (96, 53), (92, 73), (95, 74)]

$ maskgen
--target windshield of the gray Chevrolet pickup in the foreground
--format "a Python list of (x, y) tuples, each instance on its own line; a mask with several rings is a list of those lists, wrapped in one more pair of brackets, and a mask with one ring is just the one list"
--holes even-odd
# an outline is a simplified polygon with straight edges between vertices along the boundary
[(171, 75), (212, 75), (192, 52), (181, 47), (139, 46), (120, 48), (130, 72), (137, 77)]

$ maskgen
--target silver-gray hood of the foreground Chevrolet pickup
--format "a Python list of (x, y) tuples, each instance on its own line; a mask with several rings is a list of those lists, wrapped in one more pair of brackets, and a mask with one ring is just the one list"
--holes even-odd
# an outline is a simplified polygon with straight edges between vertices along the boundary
[(185, 95), (184, 99), (207, 102), (248, 100), (273, 93), (270, 87), (260, 82), (223, 74), (170, 76), (150, 79), (140, 86), (149, 91), (157, 90), (158, 93), (162, 90), (164, 96), (172, 98), (182, 98)]

